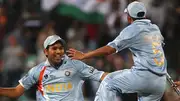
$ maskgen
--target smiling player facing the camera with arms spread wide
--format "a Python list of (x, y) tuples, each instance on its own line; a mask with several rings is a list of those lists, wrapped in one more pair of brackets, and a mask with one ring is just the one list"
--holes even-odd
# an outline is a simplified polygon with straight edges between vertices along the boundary
[(101, 81), (107, 73), (98, 71), (65, 54), (66, 45), (57, 35), (44, 41), (45, 62), (33, 67), (14, 88), (0, 88), (0, 96), (16, 98), (37, 85), (37, 101), (84, 101), (82, 84), (90, 79)]

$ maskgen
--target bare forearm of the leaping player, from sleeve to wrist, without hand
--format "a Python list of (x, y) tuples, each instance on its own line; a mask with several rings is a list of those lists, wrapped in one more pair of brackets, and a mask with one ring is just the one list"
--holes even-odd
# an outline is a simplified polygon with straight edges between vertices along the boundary
[(114, 53), (116, 50), (114, 48), (111, 48), (110, 46), (104, 46), (101, 48), (98, 48), (94, 51), (90, 51), (88, 53), (84, 54), (84, 59), (92, 58), (96, 56), (104, 56), (104, 55), (110, 55)]

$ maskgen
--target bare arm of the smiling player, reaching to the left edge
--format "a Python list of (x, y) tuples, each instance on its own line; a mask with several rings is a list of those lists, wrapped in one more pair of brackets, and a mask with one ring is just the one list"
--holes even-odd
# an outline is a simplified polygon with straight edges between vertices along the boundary
[(0, 96), (17, 98), (24, 93), (24, 87), (20, 84), (14, 88), (0, 88)]

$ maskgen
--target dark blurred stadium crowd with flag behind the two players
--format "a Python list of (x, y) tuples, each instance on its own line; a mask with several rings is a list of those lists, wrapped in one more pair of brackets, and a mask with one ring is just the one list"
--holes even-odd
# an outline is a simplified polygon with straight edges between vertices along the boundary
[[(58, 34), (67, 46), (87, 52), (106, 45), (126, 27), (128, 3), (134, 0), (0, 0), (0, 86), (13, 87), (29, 69), (44, 61), (43, 41)], [(147, 7), (147, 18), (157, 24), (165, 38), (168, 72), (180, 80), (180, 1), (139, 0)], [(129, 50), (85, 60), (99, 70), (112, 72), (133, 65)], [(98, 82), (86, 81), (84, 96), (93, 101)], [(167, 84), (162, 101), (177, 95)], [(19, 99), (35, 101), (35, 88)], [(117, 101), (137, 101), (136, 94), (118, 94)]]

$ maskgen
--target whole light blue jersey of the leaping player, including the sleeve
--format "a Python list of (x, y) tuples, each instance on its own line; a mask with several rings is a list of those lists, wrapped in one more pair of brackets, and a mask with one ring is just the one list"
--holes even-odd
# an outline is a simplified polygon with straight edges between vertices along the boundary
[(163, 36), (150, 20), (136, 20), (126, 27), (109, 46), (118, 51), (129, 48), (133, 53), (135, 69), (150, 70), (166, 74), (166, 58), (162, 49)]

